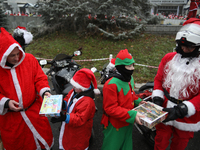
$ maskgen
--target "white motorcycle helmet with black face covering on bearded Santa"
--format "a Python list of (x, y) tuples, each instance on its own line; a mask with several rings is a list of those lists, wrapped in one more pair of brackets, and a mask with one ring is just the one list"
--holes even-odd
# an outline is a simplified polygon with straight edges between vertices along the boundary
[[(189, 20), (188, 20), (189, 21)], [(200, 23), (200, 20), (198, 20)], [(193, 58), (199, 56), (200, 47), (200, 24), (188, 23), (184, 25), (176, 34), (175, 38), (177, 42), (176, 52), (180, 53), (183, 58)], [(181, 46), (188, 48), (195, 48), (193, 52), (185, 53)]]

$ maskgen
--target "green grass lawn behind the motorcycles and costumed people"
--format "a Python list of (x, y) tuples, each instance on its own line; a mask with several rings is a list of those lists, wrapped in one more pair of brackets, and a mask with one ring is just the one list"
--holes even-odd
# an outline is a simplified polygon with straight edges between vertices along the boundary
[[(74, 33), (62, 31), (46, 35), (34, 41), (26, 48), (26, 52), (32, 53), (35, 57), (53, 59), (59, 53), (71, 55), (73, 51), (82, 47), (82, 55), (75, 57), (75, 60), (108, 58), (113, 57), (122, 49), (128, 49), (137, 64), (158, 67), (162, 57), (172, 52), (175, 47), (175, 35), (153, 35), (141, 34), (134, 39), (113, 41), (102, 36), (79, 37)], [(101, 70), (108, 60), (81, 61), (81, 67), (96, 67)], [(137, 83), (152, 81), (156, 75), (157, 68), (150, 68), (135, 65), (133, 77)], [(99, 78), (99, 74), (95, 73)]]

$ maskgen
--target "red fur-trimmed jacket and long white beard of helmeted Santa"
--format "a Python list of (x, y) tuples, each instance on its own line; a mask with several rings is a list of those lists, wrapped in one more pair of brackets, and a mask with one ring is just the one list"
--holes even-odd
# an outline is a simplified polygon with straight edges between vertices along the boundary
[[(173, 64), (171, 68), (167, 66), (170, 61)], [(176, 105), (164, 96), (163, 87), (165, 87), (171, 97), (185, 100), (183, 103), (188, 107), (188, 115), (166, 124), (183, 131), (194, 132), (200, 130), (200, 58), (194, 58), (186, 65), (187, 61), (187, 58), (181, 59), (181, 55), (176, 52), (163, 57), (154, 80), (152, 97), (164, 98), (164, 107), (170, 108)]]

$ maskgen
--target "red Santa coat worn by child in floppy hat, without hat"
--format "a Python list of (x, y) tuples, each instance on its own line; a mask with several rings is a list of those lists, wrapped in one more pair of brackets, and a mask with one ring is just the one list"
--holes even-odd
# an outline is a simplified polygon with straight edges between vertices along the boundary
[[(69, 118), (62, 123), (59, 137), (59, 148), (65, 150), (84, 150), (89, 146), (95, 114), (95, 103), (91, 97), (73, 98), (73, 89), (65, 97), (69, 107)], [(73, 103), (70, 106), (69, 102)]]

